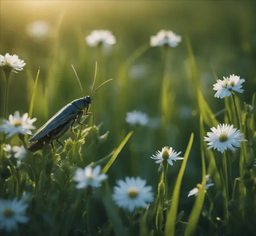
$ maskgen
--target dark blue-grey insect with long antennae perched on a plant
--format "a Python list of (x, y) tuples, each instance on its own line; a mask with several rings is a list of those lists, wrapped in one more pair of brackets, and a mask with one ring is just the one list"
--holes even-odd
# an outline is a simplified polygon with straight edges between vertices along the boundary
[(59, 143), (62, 147), (64, 147), (63, 143), (60, 141), (60, 138), (68, 131), (70, 130), (70, 133), (77, 137), (77, 134), (74, 132), (73, 125), (76, 122), (77, 124), (81, 124), (81, 126), (86, 126), (81, 122), (81, 118), (86, 115), (92, 115), (93, 117), (93, 124), (94, 127), (94, 114), (93, 112), (88, 112), (90, 105), (93, 102), (93, 95), (103, 84), (109, 82), (112, 79), (109, 79), (99, 85), (94, 90), (95, 85), (95, 79), (97, 74), (97, 62), (95, 63), (95, 74), (94, 74), (94, 81), (93, 81), (93, 88), (91, 91), (90, 96), (84, 96), (84, 92), (82, 89), (82, 85), (80, 82), (80, 79), (75, 71), (75, 68), (73, 65), (71, 65), (76, 78), (79, 82), (81, 92), (82, 92), (82, 98), (76, 99), (72, 101), (71, 103), (67, 104), (65, 107), (60, 109), (49, 121), (47, 121), (41, 128), (38, 129), (37, 132), (33, 134), (33, 136), (28, 140), (29, 143), (32, 143), (28, 150), (30, 152), (35, 152), (43, 148), (45, 144), (51, 144), (52, 147), (53, 141), (56, 140), (57, 143)]

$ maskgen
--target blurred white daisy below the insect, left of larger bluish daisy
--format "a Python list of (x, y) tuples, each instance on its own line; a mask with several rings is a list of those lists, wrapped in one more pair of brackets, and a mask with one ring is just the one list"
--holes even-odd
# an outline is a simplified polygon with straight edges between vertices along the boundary
[(89, 185), (98, 188), (101, 182), (107, 178), (106, 174), (100, 174), (100, 166), (96, 166), (94, 169), (91, 166), (86, 166), (84, 169), (80, 167), (76, 169), (73, 180), (78, 182), (76, 188), (81, 189)]

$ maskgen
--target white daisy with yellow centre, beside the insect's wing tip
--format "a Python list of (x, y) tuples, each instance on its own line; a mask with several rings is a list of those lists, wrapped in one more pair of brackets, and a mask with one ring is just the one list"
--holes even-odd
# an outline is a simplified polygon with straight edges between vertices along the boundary
[(13, 136), (16, 133), (21, 134), (32, 134), (30, 129), (35, 129), (32, 125), (37, 119), (28, 118), (28, 113), (24, 113), (22, 117), (20, 117), (20, 113), (16, 111), (13, 115), (9, 115), (9, 121), (3, 119), (3, 124), (0, 125), (0, 131), (4, 133), (9, 133), (8, 138)]

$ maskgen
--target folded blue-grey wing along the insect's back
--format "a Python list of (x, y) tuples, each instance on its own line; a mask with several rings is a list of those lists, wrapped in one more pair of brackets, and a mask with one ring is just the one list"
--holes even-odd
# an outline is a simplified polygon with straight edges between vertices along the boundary
[(28, 142), (34, 142), (37, 141), (39, 138), (44, 137), (46, 134), (56, 129), (58, 126), (60, 126), (68, 119), (75, 119), (78, 112), (79, 110), (74, 104), (67, 104), (55, 115), (53, 115), (53, 117), (49, 119), (49, 121), (47, 121), (41, 128), (39, 128), (38, 131), (33, 134), (33, 136), (29, 139)]

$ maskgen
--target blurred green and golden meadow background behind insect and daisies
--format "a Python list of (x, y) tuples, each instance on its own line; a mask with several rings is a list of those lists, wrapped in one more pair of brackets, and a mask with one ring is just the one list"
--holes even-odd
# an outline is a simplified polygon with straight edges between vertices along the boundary
[[(28, 112), (40, 67), (32, 114), (37, 118), (34, 125), (38, 129), (63, 106), (81, 97), (71, 64), (79, 75), (84, 94), (90, 95), (95, 61), (98, 61), (96, 86), (107, 79), (113, 80), (95, 93), (90, 111), (95, 114), (96, 125), (103, 123), (100, 134), (107, 131), (109, 134), (107, 141), (99, 144), (100, 148), (89, 152), (85, 147), (82, 152), (85, 161), (89, 164), (106, 156), (133, 130), (131, 139), (109, 170), (110, 185), (117, 178), (141, 176), (157, 192), (160, 172), (150, 156), (164, 146), (184, 154), (194, 132), (181, 189), (181, 202), (192, 206), (194, 199), (187, 195), (201, 182), (202, 176), (199, 113), (186, 40), (190, 39), (194, 51), (200, 89), (214, 113), (223, 109), (224, 100), (214, 98), (213, 70), (219, 79), (230, 74), (245, 78), (246, 92), (239, 97), (242, 102), (251, 103), (256, 91), (255, 1), (2, 0), (0, 7), (0, 53), (17, 54), (27, 63), (23, 71), (11, 75), (8, 113)], [(117, 39), (101, 58), (97, 48), (85, 43), (85, 36), (94, 29), (110, 30)], [(181, 43), (168, 51), (165, 113), (161, 112), (160, 99), (161, 49), (149, 46), (150, 36), (161, 29), (172, 30), (182, 37)], [(144, 50), (146, 45), (148, 49)], [(3, 117), (2, 71), (0, 83)], [(147, 113), (149, 123), (131, 126), (125, 122), (126, 113), (132, 110)], [(217, 118), (223, 122), (223, 115)], [(67, 133), (62, 141), (68, 137)], [(18, 141), (13, 139), (13, 142)], [(169, 166), (170, 190), (180, 165), (181, 161), (177, 161)]]

